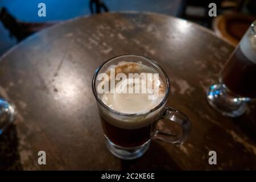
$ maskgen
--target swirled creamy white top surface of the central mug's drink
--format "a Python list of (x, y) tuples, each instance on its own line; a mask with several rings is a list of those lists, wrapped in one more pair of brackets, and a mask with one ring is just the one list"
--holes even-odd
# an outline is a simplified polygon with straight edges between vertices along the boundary
[[(148, 73), (155, 73), (154, 69), (141, 63), (133, 62), (120, 62), (110, 68), (114, 68), (116, 74), (124, 73), (125, 75), (129, 75), (129, 73), (138, 73), (141, 75), (143, 73), (144, 75), (148, 75)], [(106, 73), (109, 74), (109, 69)], [(143, 87), (146, 88), (146, 93), (142, 93)], [(139, 88), (139, 93), (135, 93), (135, 88)], [(127, 93), (129, 90), (133, 90), (133, 93)], [(154, 94), (155, 91), (158, 94)], [(160, 104), (164, 98), (164, 93), (165, 89), (161, 78), (155, 80), (153, 75), (146, 77), (145, 80), (142, 80), (140, 77), (127, 77), (116, 81), (115, 92), (102, 94), (101, 100), (105, 105), (120, 113), (147, 113)], [(150, 96), (152, 96), (151, 99)]]

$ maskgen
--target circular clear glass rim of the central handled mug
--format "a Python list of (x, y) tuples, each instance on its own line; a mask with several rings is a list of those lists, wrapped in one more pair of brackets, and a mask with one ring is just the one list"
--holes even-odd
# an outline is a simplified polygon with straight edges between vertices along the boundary
[[(102, 102), (100, 96), (98, 96), (98, 93), (97, 93), (97, 90), (96, 90), (96, 78), (98, 76), (98, 73), (101, 71), (101, 68), (104, 67), (104, 65), (108, 64), (109, 61), (112, 61), (114, 59), (117, 59), (117, 58), (121, 58), (121, 57), (127, 57), (127, 56), (133, 56), (133, 57), (139, 57), (141, 59), (144, 59), (144, 60), (147, 60), (149, 63), (155, 65), (156, 67), (158, 67), (160, 69), (160, 71), (163, 72), (164, 74), (164, 78), (166, 80), (166, 93), (164, 95), (164, 98), (163, 100), (157, 105), (155, 106), (154, 108), (150, 109), (149, 111), (147, 111), (147, 113), (133, 113), (133, 114), (128, 114), (128, 113), (121, 113), (119, 111), (115, 111), (114, 109), (111, 109), (110, 107), (108, 107), (107, 105), (104, 104), (104, 102)], [(119, 56), (114, 56), (108, 60), (106, 60), (104, 63), (102, 63), (100, 65), (100, 67), (98, 67), (94, 73), (94, 76), (93, 76), (93, 80), (92, 80), (92, 90), (93, 90), (93, 95), (94, 95), (94, 98), (96, 98), (97, 102), (99, 102), (103, 107), (105, 107), (105, 109), (108, 109), (109, 111), (111, 111), (112, 113), (114, 114), (118, 114), (118, 115), (124, 115), (124, 116), (130, 116), (130, 117), (133, 117), (133, 116), (142, 116), (142, 115), (147, 115), (149, 113), (152, 113), (154, 112), (155, 110), (159, 109), (161, 106), (163, 106), (167, 99), (168, 99), (168, 96), (169, 96), (169, 93), (170, 93), (170, 84), (169, 84), (169, 78), (166, 74), (166, 72), (163, 70), (163, 68), (158, 64), (156, 63), (156, 61), (146, 57), (146, 56), (139, 56), (139, 55), (129, 55), (129, 54), (126, 54), (126, 55), (119, 55)]]

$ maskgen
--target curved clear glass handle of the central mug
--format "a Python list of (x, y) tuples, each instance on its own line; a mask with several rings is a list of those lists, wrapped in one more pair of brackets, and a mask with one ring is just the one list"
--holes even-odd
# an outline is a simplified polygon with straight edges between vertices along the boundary
[(164, 131), (156, 130), (153, 138), (167, 143), (183, 144), (188, 139), (188, 136), (191, 132), (191, 121), (187, 115), (181, 113), (179, 110), (172, 109), (171, 107), (167, 106), (166, 110), (162, 114), (162, 118), (168, 119), (170, 122), (178, 123), (182, 127), (183, 134), (174, 135)]

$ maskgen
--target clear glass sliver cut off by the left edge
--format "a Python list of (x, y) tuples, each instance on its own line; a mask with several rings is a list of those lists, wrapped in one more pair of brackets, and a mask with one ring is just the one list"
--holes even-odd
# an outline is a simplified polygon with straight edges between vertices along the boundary
[(0, 135), (14, 122), (16, 116), (15, 106), (0, 98)]

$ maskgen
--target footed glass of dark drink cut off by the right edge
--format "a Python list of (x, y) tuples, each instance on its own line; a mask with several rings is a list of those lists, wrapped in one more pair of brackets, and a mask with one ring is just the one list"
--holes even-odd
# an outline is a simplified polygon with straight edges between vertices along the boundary
[(220, 72), (219, 84), (210, 86), (207, 99), (214, 109), (229, 117), (245, 113), (246, 102), (256, 98), (256, 20)]

